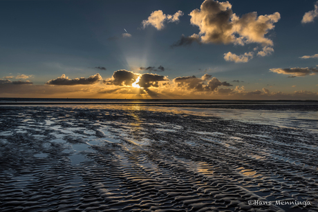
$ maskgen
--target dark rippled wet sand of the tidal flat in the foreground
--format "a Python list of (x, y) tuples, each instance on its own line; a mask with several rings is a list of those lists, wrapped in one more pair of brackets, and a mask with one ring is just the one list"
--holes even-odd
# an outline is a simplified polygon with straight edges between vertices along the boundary
[(318, 211), (317, 113), (199, 112), (1, 106), (0, 211)]

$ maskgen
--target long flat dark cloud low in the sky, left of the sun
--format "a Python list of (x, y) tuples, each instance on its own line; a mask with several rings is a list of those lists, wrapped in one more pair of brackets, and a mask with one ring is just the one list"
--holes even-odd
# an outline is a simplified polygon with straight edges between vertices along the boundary
[(51, 79), (46, 82), (47, 85), (56, 85), (56, 86), (76, 86), (76, 85), (87, 85), (87, 84), (95, 84), (97, 81), (102, 80), (100, 74), (92, 75), (91, 77), (85, 78), (75, 78), (68, 79), (64, 74), (61, 77), (57, 77), (57, 79)]

